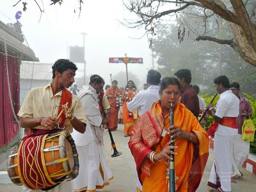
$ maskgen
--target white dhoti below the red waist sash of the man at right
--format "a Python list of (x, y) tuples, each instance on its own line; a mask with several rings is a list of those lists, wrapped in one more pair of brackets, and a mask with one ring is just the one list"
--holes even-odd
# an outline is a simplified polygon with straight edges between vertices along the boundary
[(231, 191), (233, 143), (236, 136), (214, 136), (214, 164), (208, 186)]

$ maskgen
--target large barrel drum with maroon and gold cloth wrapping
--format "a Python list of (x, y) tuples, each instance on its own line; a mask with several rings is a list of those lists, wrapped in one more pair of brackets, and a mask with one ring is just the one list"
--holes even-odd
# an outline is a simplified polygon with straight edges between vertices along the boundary
[(67, 131), (27, 138), (8, 157), (8, 175), (16, 185), (45, 189), (79, 173), (76, 145)]

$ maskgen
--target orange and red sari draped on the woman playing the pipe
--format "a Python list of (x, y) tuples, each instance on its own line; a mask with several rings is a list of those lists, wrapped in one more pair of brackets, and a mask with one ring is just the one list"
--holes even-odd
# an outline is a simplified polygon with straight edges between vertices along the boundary
[[(174, 111), (174, 124), (183, 131), (194, 132), (199, 145), (188, 140), (175, 140), (176, 191), (196, 191), (208, 159), (209, 138), (193, 113), (184, 104), (177, 103)], [(160, 100), (155, 102), (150, 113), (144, 113), (132, 130), (129, 148), (136, 162), (138, 177), (143, 184), (143, 192), (168, 191), (165, 160), (152, 163), (145, 158), (149, 152), (160, 152), (165, 147), (168, 136), (161, 137), (163, 129), (170, 126), (169, 116), (163, 117)]]

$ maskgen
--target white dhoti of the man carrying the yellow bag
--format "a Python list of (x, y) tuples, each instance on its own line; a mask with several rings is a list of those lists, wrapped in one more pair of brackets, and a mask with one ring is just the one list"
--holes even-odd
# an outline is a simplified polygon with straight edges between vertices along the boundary
[(234, 138), (233, 146), (232, 176), (241, 176), (239, 169), (242, 167), (244, 161), (248, 159), (250, 142), (243, 141), (242, 135), (238, 134)]

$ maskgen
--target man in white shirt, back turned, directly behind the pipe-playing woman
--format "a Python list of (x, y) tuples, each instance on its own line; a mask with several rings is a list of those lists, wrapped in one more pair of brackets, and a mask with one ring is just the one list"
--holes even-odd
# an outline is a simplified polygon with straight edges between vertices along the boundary
[[(159, 84), (161, 82), (161, 74), (156, 70), (149, 70), (147, 74), (147, 90), (138, 92), (131, 102), (127, 103), (127, 109), (134, 111), (138, 109), (139, 116), (148, 111), (152, 104), (159, 99)], [(137, 191), (142, 191), (140, 180), (137, 177)]]

